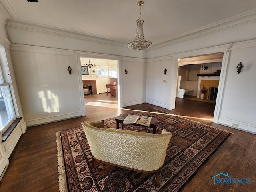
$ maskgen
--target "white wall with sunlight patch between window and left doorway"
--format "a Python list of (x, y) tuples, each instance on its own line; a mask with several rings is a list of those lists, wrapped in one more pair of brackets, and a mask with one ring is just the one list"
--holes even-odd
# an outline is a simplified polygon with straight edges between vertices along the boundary
[(28, 126), (83, 115), (74, 51), (12, 44), (12, 58)]

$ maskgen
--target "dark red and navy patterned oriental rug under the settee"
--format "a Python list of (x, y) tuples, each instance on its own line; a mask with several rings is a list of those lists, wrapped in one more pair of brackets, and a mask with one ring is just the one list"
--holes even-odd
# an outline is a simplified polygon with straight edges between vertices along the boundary
[[(60, 192), (176, 192), (230, 134), (154, 108), (130, 114), (157, 118), (156, 134), (163, 129), (172, 132), (159, 174), (160, 188), (156, 187), (154, 173), (135, 172), (97, 161), (92, 169), (90, 146), (80, 126), (56, 133)], [(104, 120), (104, 126), (116, 128), (115, 118)], [(124, 129), (152, 133), (152, 128), (131, 124), (124, 124)]]

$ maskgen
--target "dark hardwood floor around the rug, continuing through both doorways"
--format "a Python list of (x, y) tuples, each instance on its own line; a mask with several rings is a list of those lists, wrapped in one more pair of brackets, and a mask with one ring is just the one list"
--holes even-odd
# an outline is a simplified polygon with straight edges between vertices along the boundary
[[(29, 127), (10, 157), (1, 180), (1, 192), (58, 192), (56, 132), (98, 121), (132, 110), (154, 107), (233, 132), (182, 188), (183, 192), (250, 192), (256, 189), (256, 136), (212, 122), (214, 104), (176, 98), (176, 108), (167, 110), (151, 104), (117, 108), (114, 96), (99, 94), (84, 97), (86, 116)], [(228, 173), (232, 178), (250, 178), (250, 184), (216, 184), (212, 176)]]

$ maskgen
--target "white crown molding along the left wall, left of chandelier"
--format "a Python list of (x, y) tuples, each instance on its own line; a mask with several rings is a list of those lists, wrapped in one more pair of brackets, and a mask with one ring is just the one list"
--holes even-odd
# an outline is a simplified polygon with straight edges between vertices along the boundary
[(85, 40), (85, 41), (89, 41), (89, 42), (97, 42), (97, 43), (102, 43), (102, 44), (112, 44), (115, 46), (127, 47), (126, 42), (102, 38), (99, 36), (92, 36), (91, 34), (87, 34), (87, 33), (72, 30), (72, 29), (65, 29), (65, 28), (50, 26), (50, 25), (46, 25), (46, 24), (39, 24), (39, 23), (35, 23), (35, 22), (29, 22), (26, 20), (22, 20), (22, 19), (7, 20), (6, 28), (28, 30), (28, 31), (32, 31), (32, 32), (53, 34), (53, 35), (57, 35), (57, 36)]

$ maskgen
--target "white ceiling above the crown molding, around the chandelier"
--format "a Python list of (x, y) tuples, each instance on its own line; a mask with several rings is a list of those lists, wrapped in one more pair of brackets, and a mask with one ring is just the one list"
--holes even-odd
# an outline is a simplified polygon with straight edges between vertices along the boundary
[[(2, 2), (2, 0), (1, 0)], [(12, 18), (129, 42), (134, 40), (139, 6), (134, 0), (8, 0)], [(256, 1), (158, 1), (141, 7), (144, 37), (158, 44), (256, 8)], [(1, 16), (2, 17), (2, 16)]]

